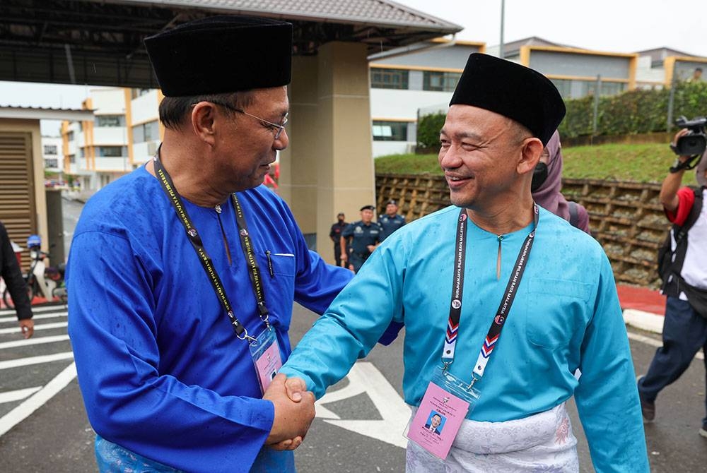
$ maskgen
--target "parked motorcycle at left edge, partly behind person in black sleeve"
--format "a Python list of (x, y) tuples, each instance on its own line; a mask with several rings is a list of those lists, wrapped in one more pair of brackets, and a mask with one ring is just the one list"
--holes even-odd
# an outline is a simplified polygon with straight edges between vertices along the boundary
[[(35, 296), (45, 297), (47, 301), (60, 301), (66, 304), (68, 294), (64, 285), (64, 272), (66, 265), (61, 263), (57, 266), (47, 266), (45, 258), (49, 258), (49, 253), (42, 251), (42, 239), (39, 235), (30, 235), (27, 239), (27, 246), (30, 250), (32, 264), (28, 273), (23, 275), (27, 286), (27, 295), (30, 301)], [(14, 308), (10, 291), (5, 288), (2, 299), (6, 307)]]

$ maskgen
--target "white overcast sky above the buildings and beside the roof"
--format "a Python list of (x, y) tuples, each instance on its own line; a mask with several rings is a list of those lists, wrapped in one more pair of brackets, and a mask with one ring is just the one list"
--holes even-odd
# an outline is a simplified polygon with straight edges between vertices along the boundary
[[(459, 40), (501, 39), (501, 0), (397, 0), (464, 27)], [(707, 56), (707, 0), (506, 0), (504, 41), (538, 36), (550, 42), (610, 52), (670, 47)], [(92, 87), (0, 81), (0, 104), (81, 108)], [(56, 135), (58, 122), (42, 123)]]

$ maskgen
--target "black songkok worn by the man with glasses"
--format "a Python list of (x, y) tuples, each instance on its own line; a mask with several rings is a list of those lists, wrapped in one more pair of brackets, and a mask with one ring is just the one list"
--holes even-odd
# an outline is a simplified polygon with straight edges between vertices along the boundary
[(278, 87), (290, 83), (292, 25), (248, 16), (212, 16), (145, 38), (167, 97)]

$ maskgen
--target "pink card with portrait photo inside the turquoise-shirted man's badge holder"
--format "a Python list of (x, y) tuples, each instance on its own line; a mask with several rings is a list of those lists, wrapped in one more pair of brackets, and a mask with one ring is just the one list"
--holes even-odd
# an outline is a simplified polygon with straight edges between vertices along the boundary
[(410, 422), (407, 438), (445, 460), (467, 412), (469, 402), (430, 382)]

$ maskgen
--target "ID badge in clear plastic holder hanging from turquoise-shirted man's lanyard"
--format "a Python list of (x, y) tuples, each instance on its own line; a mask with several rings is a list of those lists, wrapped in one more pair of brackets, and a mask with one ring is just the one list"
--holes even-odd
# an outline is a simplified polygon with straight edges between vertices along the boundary
[(446, 460), (462, 421), (476, 406), (479, 394), (476, 388), (469, 388), (467, 381), (436, 368), (408, 425), (406, 437), (440, 460)]

